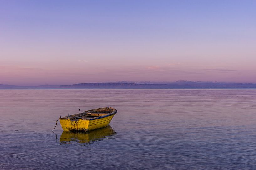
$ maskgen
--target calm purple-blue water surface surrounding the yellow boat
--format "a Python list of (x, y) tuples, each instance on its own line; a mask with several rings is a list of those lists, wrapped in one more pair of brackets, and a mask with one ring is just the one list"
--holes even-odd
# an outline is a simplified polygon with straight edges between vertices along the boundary
[[(111, 106), (110, 126), (59, 116)], [(0, 169), (256, 169), (256, 90), (0, 90)]]

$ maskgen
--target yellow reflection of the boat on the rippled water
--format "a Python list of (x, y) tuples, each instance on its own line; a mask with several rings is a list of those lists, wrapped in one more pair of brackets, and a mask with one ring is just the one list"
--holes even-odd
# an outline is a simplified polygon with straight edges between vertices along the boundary
[(116, 132), (111, 126), (88, 132), (63, 131), (60, 136), (60, 144), (92, 143), (94, 141), (114, 138), (115, 136)]

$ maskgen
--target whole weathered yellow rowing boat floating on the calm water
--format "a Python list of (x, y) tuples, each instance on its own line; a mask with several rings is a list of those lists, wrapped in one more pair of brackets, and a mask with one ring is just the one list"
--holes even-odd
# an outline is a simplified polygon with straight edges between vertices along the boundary
[(112, 107), (104, 107), (84, 111), (83, 113), (60, 117), (60, 124), (64, 131), (89, 131), (109, 125), (117, 113)]

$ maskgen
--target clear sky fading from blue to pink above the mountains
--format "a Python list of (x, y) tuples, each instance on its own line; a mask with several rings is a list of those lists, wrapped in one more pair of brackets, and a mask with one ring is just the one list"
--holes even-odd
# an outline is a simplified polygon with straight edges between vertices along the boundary
[(0, 84), (256, 83), (256, 1), (0, 0)]

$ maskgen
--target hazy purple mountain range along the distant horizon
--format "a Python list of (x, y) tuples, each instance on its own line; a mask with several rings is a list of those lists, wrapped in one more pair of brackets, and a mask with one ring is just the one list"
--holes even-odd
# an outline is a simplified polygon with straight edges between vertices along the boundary
[(39, 85), (16, 86), (2, 85), (0, 89), (222, 89), (222, 88), (256, 88), (253, 83), (218, 83), (218, 82), (193, 82), (176, 81), (170, 84), (149, 83), (79, 83), (73, 85)]

